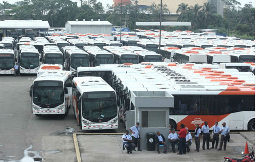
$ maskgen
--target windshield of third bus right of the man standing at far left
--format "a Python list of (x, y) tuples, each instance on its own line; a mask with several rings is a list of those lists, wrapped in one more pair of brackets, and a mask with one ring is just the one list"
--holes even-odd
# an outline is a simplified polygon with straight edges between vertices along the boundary
[(70, 67), (76, 69), (78, 67), (88, 67), (89, 56), (85, 54), (72, 54), (70, 60)]

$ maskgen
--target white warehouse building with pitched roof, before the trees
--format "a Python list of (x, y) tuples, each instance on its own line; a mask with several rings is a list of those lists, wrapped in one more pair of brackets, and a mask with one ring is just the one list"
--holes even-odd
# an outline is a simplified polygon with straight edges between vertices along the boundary
[(108, 21), (67, 21), (65, 23), (67, 33), (104, 33), (111, 34), (112, 24)]

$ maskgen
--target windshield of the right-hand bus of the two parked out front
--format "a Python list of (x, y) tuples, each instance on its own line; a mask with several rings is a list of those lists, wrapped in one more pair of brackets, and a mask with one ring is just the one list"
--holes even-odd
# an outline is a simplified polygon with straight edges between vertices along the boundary
[(88, 92), (83, 94), (82, 116), (91, 122), (107, 122), (117, 116), (115, 92)]

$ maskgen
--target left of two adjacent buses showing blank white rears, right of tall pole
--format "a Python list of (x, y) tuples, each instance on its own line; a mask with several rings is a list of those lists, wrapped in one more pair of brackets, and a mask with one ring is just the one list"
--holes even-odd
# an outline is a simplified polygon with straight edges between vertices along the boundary
[(173, 62), (178, 62), (179, 64), (186, 63), (207, 63), (207, 56), (205, 54), (201, 54), (197, 51), (176, 51), (174, 53)]

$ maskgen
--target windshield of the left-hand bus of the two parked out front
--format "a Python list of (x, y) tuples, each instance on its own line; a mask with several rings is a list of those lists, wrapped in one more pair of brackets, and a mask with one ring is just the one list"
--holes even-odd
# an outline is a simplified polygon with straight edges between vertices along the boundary
[(64, 102), (62, 81), (35, 81), (33, 102), (40, 107), (53, 108)]

